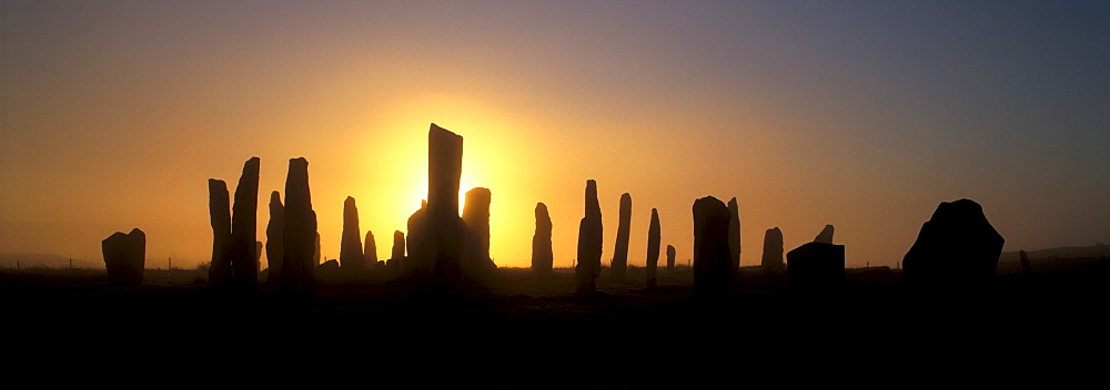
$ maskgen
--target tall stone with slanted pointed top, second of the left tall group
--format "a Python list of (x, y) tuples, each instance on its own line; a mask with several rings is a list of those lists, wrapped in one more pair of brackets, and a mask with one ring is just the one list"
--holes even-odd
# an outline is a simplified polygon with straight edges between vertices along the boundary
[(253, 289), (259, 284), (259, 260), (255, 254), (259, 232), (259, 157), (243, 164), (243, 175), (235, 187), (235, 204), (231, 216), (232, 283), (238, 288)]

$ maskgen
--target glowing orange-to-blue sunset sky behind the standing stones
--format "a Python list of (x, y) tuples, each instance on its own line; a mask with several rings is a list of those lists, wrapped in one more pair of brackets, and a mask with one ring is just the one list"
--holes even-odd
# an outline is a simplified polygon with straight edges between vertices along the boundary
[(101, 259), (139, 227), (148, 267), (208, 261), (208, 178), (261, 158), (265, 242), (303, 156), (322, 255), (353, 196), (384, 259), (431, 123), (492, 191), (500, 266), (529, 265), (537, 202), (569, 266), (586, 179), (603, 263), (623, 193), (634, 266), (652, 208), (692, 258), (710, 195), (741, 265), (834, 224), (849, 267), (895, 266), (959, 198), (1003, 250), (1110, 238), (1106, 1), (3, 1), (0, 55), (0, 253)]

